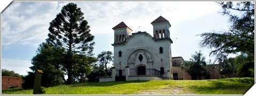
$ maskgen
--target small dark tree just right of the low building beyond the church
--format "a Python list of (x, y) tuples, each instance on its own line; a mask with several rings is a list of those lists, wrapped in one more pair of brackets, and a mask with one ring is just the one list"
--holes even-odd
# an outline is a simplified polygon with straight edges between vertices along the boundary
[(230, 78), (230, 75), (235, 72), (235, 58), (224, 57), (220, 64), (221, 75), (226, 75)]

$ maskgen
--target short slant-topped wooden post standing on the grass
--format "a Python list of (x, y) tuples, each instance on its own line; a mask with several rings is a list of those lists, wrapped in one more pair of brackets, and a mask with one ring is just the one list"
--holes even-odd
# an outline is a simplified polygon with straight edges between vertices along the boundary
[(34, 90), (33, 94), (39, 94), (39, 91), (41, 89), (41, 76), (43, 74), (42, 70), (36, 70), (35, 71), (35, 81), (34, 81)]

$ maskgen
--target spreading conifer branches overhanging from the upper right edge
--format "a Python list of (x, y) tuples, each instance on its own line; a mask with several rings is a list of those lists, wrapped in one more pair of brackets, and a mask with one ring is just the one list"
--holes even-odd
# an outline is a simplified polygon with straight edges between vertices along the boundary
[[(229, 30), (212, 31), (200, 36), (201, 47), (213, 49), (210, 55), (218, 60), (230, 53), (244, 53), (254, 57), (254, 2), (217, 2), (222, 6), (222, 15), (229, 17)], [(237, 13), (237, 14), (236, 14)]]

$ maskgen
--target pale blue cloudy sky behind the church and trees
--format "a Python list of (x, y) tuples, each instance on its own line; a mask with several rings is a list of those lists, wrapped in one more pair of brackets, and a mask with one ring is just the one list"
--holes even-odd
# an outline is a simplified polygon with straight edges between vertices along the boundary
[[(67, 3), (15, 1), (6, 7), (1, 13), (1, 68), (27, 75), (38, 45), (47, 38), (49, 22)], [(172, 57), (189, 60), (191, 54), (201, 50), (209, 61), (214, 59), (208, 56), (211, 49), (199, 47), (202, 38), (195, 35), (225, 30), (229, 25), (228, 18), (218, 13), (221, 6), (212, 1), (74, 3), (84, 12), (91, 34), (95, 36), (95, 57), (101, 51), (114, 51), (112, 28), (118, 23), (124, 21), (133, 33), (146, 31), (153, 36), (150, 22), (162, 15), (171, 24)]]

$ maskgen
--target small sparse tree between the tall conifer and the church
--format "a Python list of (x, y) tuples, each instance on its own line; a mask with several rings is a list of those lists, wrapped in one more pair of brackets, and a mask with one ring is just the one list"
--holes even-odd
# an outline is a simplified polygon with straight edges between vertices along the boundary
[(108, 66), (111, 62), (113, 63), (113, 53), (111, 51), (102, 51), (97, 55), (97, 59), (99, 61), (100, 68), (103, 69), (107, 76), (111, 76), (112, 67)]

